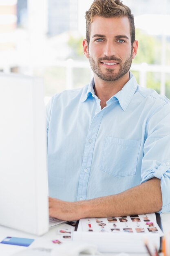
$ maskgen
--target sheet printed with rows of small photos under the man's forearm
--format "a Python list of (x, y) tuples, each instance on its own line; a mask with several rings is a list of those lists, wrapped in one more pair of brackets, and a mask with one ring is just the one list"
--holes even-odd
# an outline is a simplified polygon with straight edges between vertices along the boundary
[(155, 213), (109, 218), (84, 218), (79, 220), (77, 231), (133, 234), (156, 233), (159, 236), (163, 236), (163, 232), (157, 224)]

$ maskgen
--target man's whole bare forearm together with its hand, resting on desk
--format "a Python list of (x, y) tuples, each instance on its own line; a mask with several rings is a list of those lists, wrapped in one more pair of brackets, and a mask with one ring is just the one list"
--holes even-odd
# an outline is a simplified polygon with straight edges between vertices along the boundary
[(159, 211), (161, 207), (161, 187), (157, 178), (152, 178), (123, 193), (92, 200), (64, 202), (49, 198), (50, 216), (61, 220), (152, 213)]

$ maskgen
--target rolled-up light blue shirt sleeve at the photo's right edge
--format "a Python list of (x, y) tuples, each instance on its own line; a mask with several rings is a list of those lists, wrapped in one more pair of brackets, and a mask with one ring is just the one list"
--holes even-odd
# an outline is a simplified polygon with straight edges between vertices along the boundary
[(170, 212), (170, 102), (152, 115), (146, 127), (141, 183), (153, 177), (161, 180), (162, 209), (159, 213)]

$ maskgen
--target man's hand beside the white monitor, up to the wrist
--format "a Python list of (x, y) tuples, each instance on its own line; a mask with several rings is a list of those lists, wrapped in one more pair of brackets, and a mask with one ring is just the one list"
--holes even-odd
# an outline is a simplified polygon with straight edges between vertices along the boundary
[(65, 202), (49, 197), (49, 215), (60, 220), (79, 220), (81, 214), (80, 202)]

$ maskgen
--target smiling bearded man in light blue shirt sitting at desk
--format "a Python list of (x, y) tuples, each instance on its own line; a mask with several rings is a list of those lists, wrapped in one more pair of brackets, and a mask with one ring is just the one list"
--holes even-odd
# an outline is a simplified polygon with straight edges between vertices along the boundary
[(47, 107), (50, 216), (170, 210), (170, 101), (137, 85), (137, 48), (130, 9), (95, 0), (83, 41), (94, 79)]

